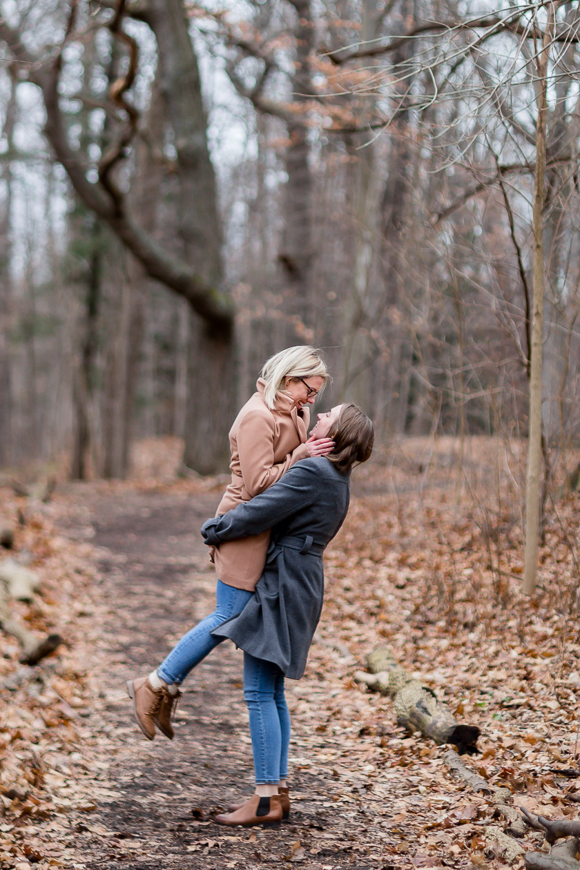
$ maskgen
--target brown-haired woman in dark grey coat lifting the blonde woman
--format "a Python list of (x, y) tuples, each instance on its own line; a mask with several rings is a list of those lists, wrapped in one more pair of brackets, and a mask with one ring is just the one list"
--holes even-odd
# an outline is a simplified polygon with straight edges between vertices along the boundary
[(241, 613), (213, 631), (244, 651), (243, 693), (256, 771), (256, 792), (217, 816), (221, 825), (270, 824), (290, 812), (284, 677), (303, 675), (323, 606), (323, 551), (346, 517), (350, 471), (370, 458), (374, 438), (372, 422), (352, 404), (319, 414), (311, 434), (333, 438), (332, 452), (297, 462), (266, 492), (202, 528), (205, 543), (218, 549), (271, 530), (256, 591)]

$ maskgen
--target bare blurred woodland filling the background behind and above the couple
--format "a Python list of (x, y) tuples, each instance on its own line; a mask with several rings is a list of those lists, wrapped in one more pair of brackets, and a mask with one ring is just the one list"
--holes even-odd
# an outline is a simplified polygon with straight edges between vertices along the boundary
[(405, 435), (527, 434), (538, 58), (543, 433), (577, 442), (577, 3), (4, 0), (0, 465), (197, 472), (322, 347)]

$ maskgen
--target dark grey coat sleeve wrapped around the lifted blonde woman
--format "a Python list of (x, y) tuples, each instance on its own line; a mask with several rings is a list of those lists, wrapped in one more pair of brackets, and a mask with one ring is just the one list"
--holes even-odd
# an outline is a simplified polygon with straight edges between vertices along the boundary
[(311, 505), (317, 499), (320, 485), (316, 465), (303, 462), (295, 465), (266, 492), (237, 505), (232, 511), (208, 519), (202, 526), (205, 543), (218, 545), (271, 529)]

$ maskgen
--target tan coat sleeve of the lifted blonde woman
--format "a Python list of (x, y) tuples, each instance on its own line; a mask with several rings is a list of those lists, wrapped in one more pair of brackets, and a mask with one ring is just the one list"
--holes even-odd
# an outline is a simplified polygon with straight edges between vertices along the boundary
[(252, 498), (276, 483), (298, 459), (310, 456), (308, 447), (300, 444), (282, 462), (274, 462), (274, 418), (270, 412), (246, 414), (237, 430), (237, 453), (243, 485)]

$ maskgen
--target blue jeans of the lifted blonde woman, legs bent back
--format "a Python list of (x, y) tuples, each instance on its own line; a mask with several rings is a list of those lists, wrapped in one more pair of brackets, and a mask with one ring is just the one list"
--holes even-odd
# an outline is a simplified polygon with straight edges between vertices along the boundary
[(194, 626), (187, 634), (183, 635), (181, 640), (177, 641), (177, 645), (173, 647), (167, 658), (163, 659), (161, 666), (157, 668), (157, 673), (161, 679), (170, 686), (173, 683), (183, 683), (188, 673), (225, 639), (214, 638), (210, 632), (217, 626), (221, 626), (226, 619), (230, 619), (230, 616), (236, 616), (237, 613), (242, 612), (253, 594), (245, 589), (226, 586), (225, 583), (218, 580), (216, 610), (198, 622), (197, 626)]

